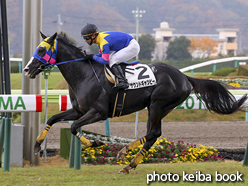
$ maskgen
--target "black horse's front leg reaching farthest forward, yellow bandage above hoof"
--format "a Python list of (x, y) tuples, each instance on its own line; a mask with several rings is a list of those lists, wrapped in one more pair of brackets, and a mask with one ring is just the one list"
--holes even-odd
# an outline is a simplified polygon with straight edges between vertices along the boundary
[(34, 145), (34, 154), (37, 155), (38, 152), (40, 151), (40, 149), (41, 149), (40, 146), (43, 143), (44, 139), (46, 138), (47, 133), (49, 132), (51, 126), (54, 123), (57, 123), (59, 121), (77, 120), (81, 116), (82, 116), (82, 113), (79, 113), (74, 109), (69, 109), (65, 112), (62, 112), (62, 113), (59, 113), (59, 114), (52, 116), (47, 121), (46, 126), (44, 127), (44, 129), (41, 131), (41, 133), (39, 134), (39, 136), (36, 139), (36, 143)]

